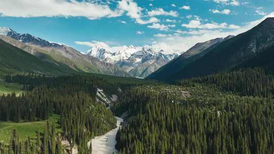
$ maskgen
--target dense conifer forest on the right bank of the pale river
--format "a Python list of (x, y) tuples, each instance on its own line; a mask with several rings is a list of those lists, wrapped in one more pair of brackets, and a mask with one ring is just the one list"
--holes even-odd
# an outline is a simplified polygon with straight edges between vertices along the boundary
[(274, 151), (272, 98), (242, 97), (199, 84), (173, 88), (189, 95), (158, 88), (132, 89), (121, 101), (130, 113), (117, 134), (121, 153)]

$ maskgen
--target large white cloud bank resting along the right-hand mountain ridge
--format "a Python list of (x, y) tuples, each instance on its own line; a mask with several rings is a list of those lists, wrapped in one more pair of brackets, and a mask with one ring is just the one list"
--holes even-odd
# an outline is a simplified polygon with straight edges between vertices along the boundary
[(209, 41), (217, 37), (226, 37), (228, 35), (237, 35), (239, 33), (243, 33), (258, 25), (268, 17), (274, 17), (274, 12), (264, 16), (259, 20), (245, 23), (241, 27), (236, 25), (229, 25), (230, 29), (194, 29), (190, 31), (177, 30), (177, 33), (180, 33), (180, 35), (157, 37), (158, 40), (155, 40), (152, 46), (154, 48), (159, 47), (166, 49), (166, 52), (169, 53), (185, 52), (199, 42)]

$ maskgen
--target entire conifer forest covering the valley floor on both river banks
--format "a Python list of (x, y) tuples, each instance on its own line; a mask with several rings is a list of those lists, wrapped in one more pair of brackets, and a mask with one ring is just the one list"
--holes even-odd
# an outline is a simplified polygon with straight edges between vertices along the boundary
[[(35, 138), (16, 130), (2, 153), (90, 153), (87, 142), (116, 127), (114, 114), (127, 112), (118, 131), (120, 153), (273, 153), (274, 103), (271, 73), (235, 69), (186, 79), (176, 85), (108, 81), (99, 76), (7, 75), (25, 93), (0, 97), (0, 121), (35, 122), (60, 115)], [(110, 109), (96, 101), (97, 88), (116, 94)], [(122, 92), (121, 92), (122, 91)], [(65, 149), (66, 140), (70, 149)]]

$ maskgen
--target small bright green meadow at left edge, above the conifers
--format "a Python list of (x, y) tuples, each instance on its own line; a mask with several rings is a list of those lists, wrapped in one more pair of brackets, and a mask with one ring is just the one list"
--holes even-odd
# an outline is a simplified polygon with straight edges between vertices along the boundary
[(23, 92), (21, 90), (22, 88), (23, 86), (19, 84), (15, 84), (15, 83), (9, 84), (9, 83), (0, 81), (0, 95), (9, 94), (13, 92), (19, 95), (20, 93)]

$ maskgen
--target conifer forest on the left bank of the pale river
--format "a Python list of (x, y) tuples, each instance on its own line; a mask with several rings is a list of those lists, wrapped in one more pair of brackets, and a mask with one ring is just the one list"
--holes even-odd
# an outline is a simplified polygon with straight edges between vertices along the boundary
[[(24, 93), (0, 97), (0, 130), (7, 126), (14, 129), (13, 133), (9, 132), (11, 136), (4, 137), (11, 143), (0, 143), (0, 153), (43, 154), (89, 153), (91, 149), (87, 143), (91, 138), (116, 127), (111, 110), (107, 109), (106, 104), (96, 101), (97, 88), (106, 94), (118, 95), (132, 86), (157, 84), (95, 74), (49, 76), (29, 73), (6, 75), (4, 81), (22, 85)], [(53, 116), (58, 117), (56, 123), (52, 121)], [(25, 123), (30, 127), (25, 127), (27, 131), (16, 130), (23, 129), (16, 123)], [(38, 127), (44, 129), (36, 130)]]

